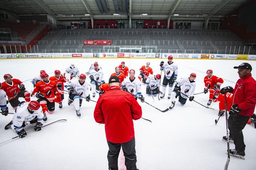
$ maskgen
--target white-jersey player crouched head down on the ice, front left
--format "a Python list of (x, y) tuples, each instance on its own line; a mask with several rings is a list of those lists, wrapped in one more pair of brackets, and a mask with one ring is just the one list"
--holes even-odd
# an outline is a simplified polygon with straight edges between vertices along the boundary
[(30, 124), (35, 124), (35, 131), (39, 131), (42, 128), (42, 121), (44, 114), (42, 107), (37, 101), (31, 102), (22, 102), (16, 109), (15, 114), (13, 115), (13, 120), (5, 126), (5, 130), (12, 127), (12, 129), (19, 135), (20, 138), (23, 138), (27, 135), (26, 131), (23, 129), (28, 122)]

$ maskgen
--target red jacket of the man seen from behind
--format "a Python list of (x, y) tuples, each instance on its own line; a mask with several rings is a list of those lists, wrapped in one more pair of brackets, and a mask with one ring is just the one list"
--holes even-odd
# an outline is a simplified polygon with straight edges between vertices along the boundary
[(112, 143), (125, 143), (134, 138), (132, 120), (141, 118), (141, 107), (128, 92), (119, 86), (111, 86), (101, 95), (94, 110), (96, 122), (105, 124), (105, 133)]

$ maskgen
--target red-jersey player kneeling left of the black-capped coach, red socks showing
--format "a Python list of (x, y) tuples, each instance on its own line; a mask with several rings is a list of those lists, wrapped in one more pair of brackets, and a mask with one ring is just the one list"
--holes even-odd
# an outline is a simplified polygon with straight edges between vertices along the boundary
[(209, 101), (207, 103), (207, 105), (209, 106), (212, 103), (212, 99), (215, 99), (213, 94), (214, 90), (220, 89), (220, 86), (223, 84), (223, 79), (215, 75), (212, 75), (211, 69), (207, 70), (206, 73), (207, 73), (207, 76), (205, 76), (204, 78), (204, 84), (205, 84), (204, 93), (207, 94), (208, 90), (210, 91)]

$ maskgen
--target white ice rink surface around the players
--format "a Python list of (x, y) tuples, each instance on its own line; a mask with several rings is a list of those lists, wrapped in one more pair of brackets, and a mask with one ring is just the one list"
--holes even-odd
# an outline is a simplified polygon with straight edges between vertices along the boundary
[[(24, 82), (26, 90), (31, 92), (33, 85), (30, 80), (39, 75), (44, 69), (49, 76), (54, 75), (54, 70), (64, 72), (73, 62), (80, 73), (89, 71), (92, 63), (97, 61), (103, 68), (105, 81), (108, 82), (115, 66), (125, 61), (129, 69), (135, 69), (135, 76), (139, 74), (141, 66), (150, 62), (154, 75), (160, 73), (159, 63), (167, 59), (5, 59), (0, 60), (0, 81), (3, 75), (10, 73), (13, 78)], [(213, 70), (213, 75), (224, 79), (221, 87), (235, 85), (239, 76), (237, 69), (242, 62), (252, 65), (252, 76), (256, 78), (256, 61), (237, 60), (194, 60), (173, 59), (178, 65), (178, 79), (196, 73), (195, 93), (204, 90), (204, 77), (207, 69)], [(162, 75), (163, 77), (163, 75)], [(161, 79), (162, 82), (163, 79)], [(86, 79), (90, 84), (89, 78)], [(169, 108), (170, 100), (167, 95), (158, 100), (145, 95), (146, 86), (142, 85), (142, 94), (145, 101), (164, 110)], [(166, 90), (166, 94), (168, 88)], [(97, 100), (99, 95), (91, 99)], [(99, 125), (93, 118), (95, 102), (83, 100), (81, 118), (76, 115), (73, 106), (67, 105), (68, 95), (65, 94), (63, 108), (55, 104), (54, 114), (48, 114), (48, 121), (44, 125), (60, 119), (66, 122), (57, 122), (42, 128), (41, 131), (29, 133), (25, 138), (16, 138), (0, 145), (1, 170), (106, 170), (108, 169), (108, 145), (105, 137), (104, 125)], [(195, 95), (195, 101), (206, 105), (209, 93)], [(23, 100), (23, 98), (21, 98)], [(32, 97), (31, 100), (36, 100)], [(218, 124), (218, 103), (212, 103), (211, 108), (204, 108), (196, 102), (187, 100), (182, 107), (177, 101), (175, 107), (167, 112), (160, 112), (148, 104), (141, 103), (143, 119), (134, 121), (137, 168), (140, 170), (221, 170), (227, 160), (227, 143), (222, 141), (226, 135), (225, 116), (221, 117)], [(9, 112), (14, 112), (10, 104)], [(4, 126), (12, 120), (12, 115), (0, 115), (0, 143), (16, 136), (11, 130), (4, 130)], [(32, 130), (32, 125), (27, 125), (25, 130)], [(231, 157), (228, 169), (230, 170), (255, 170), (256, 167), (256, 129), (247, 124), (243, 130), (246, 144), (245, 160)], [(230, 143), (230, 148), (234, 144)], [(123, 157), (119, 156), (119, 169), (124, 170)]]

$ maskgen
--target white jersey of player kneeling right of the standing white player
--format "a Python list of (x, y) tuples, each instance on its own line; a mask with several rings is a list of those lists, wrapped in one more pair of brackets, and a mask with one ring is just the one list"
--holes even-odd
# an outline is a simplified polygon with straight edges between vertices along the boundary
[[(175, 84), (180, 85), (180, 92), (192, 97), (196, 89), (196, 82), (189, 81), (189, 78), (180, 78), (179, 81), (175, 81)], [(185, 95), (180, 94), (181, 97), (187, 98)]]

